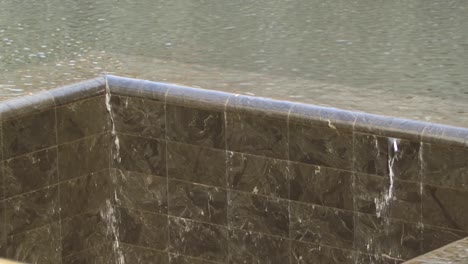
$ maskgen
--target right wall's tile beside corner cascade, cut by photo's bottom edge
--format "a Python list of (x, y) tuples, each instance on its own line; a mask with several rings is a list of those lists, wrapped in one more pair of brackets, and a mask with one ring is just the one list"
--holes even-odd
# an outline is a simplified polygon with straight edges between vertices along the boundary
[(149, 248), (137, 247), (133, 245), (120, 244), (124, 263), (128, 264), (168, 264), (169, 256), (167, 252), (153, 250)]

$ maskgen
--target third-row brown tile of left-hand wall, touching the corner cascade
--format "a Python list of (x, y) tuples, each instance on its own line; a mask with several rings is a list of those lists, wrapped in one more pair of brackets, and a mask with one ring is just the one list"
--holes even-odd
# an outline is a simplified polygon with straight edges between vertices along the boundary
[(68, 218), (80, 213), (99, 210), (112, 194), (109, 170), (60, 183), (61, 217)]

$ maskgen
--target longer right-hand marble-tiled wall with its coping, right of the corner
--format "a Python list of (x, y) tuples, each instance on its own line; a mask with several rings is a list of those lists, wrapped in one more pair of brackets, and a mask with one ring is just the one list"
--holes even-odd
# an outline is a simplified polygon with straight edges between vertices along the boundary
[(465, 129), (108, 80), (142, 257), (401, 263), (468, 234)]

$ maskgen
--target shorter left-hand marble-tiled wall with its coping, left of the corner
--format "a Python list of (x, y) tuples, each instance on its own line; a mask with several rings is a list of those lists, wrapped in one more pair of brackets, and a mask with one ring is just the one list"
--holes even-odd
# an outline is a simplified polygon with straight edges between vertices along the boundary
[(107, 239), (100, 211), (112, 185), (103, 88), (94, 80), (68, 93), (0, 103), (0, 256), (78, 263), (71, 260)]

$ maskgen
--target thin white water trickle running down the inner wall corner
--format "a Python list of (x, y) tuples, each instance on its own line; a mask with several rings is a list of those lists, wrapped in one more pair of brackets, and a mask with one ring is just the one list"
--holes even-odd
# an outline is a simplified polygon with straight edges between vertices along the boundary
[[(110, 124), (111, 124), (111, 142), (113, 145), (111, 146), (111, 156), (114, 161), (120, 163), (122, 161), (120, 157), (120, 141), (117, 135), (117, 131), (115, 129), (115, 121), (114, 121), (114, 113), (112, 111), (111, 106), (111, 94), (109, 89), (109, 84), (106, 79), (106, 109), (109, 115)], [(109, 172), (112, 176), (112, 183), (114, 185), (117, 184), (116, 175), (112, 172)], [(114, 188), (114, 203), (119, 203), (119, 198), (117, 196), (116, 188)], [(116, 256), (115, 263), (116, 264), (125, 264), (125, 258), (120, 247), (120, 238), (119, 238), (119, 217), (115, 211), (115, 204), (112, 203), (111, 199), (106, 199), (106, 207), (105, 210), (101, 211), (101, 216), (104, 218), (107, 224), (107, 235), (112, 237), (112, 250)]]

